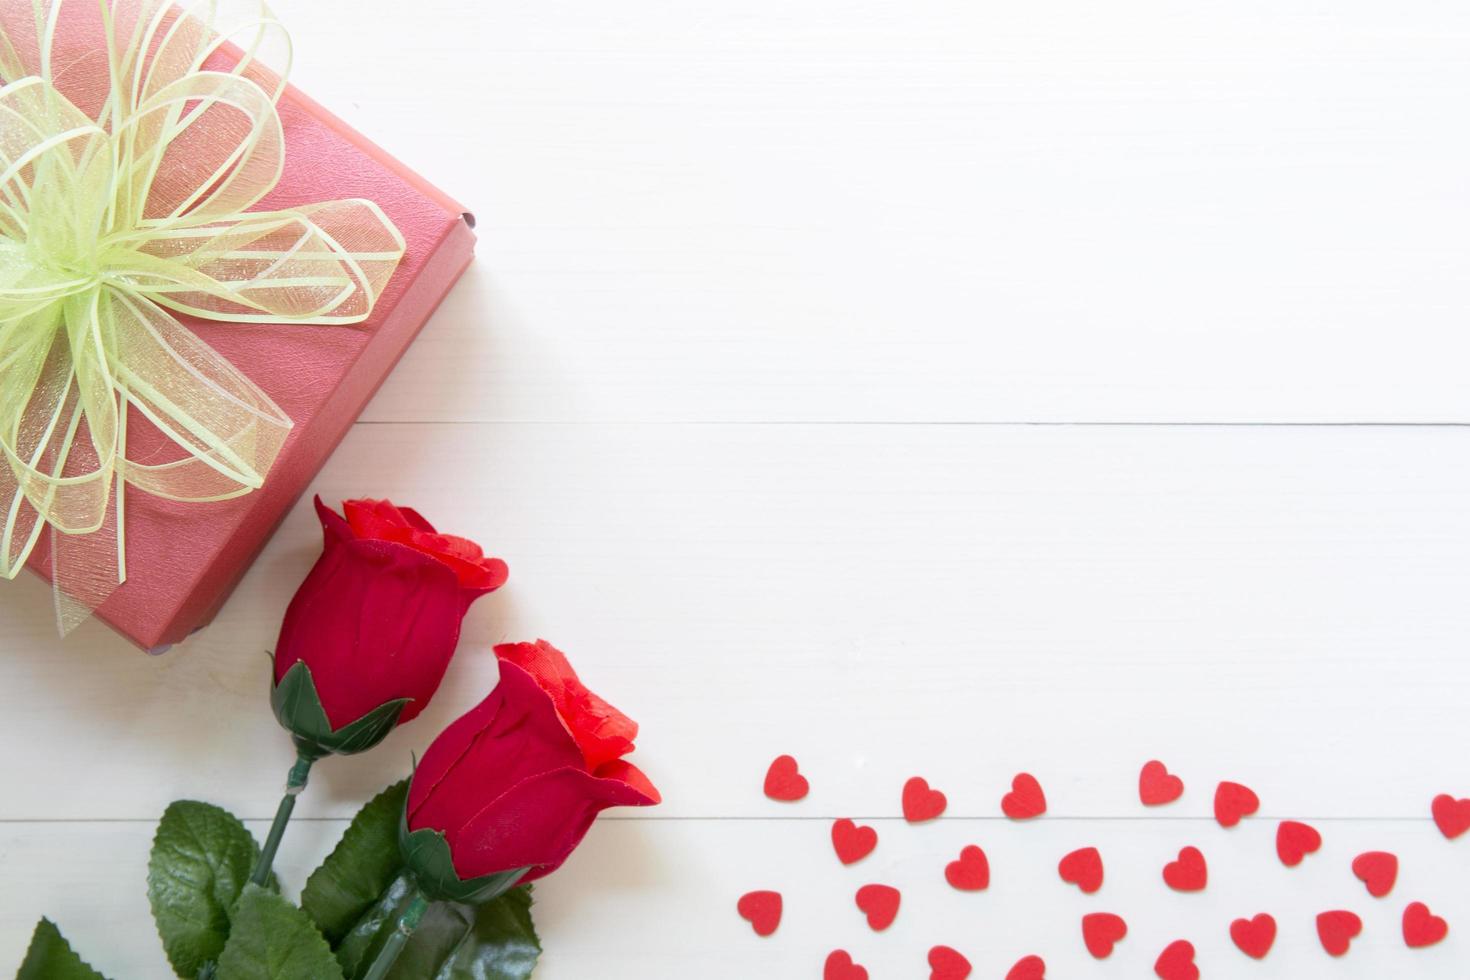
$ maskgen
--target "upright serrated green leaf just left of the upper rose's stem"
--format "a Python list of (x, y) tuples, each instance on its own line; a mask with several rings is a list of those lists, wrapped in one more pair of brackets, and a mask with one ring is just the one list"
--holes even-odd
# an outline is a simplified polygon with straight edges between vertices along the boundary
[(181, 799), (163, 811), (148, 855), (148, 905), (173, 971), (194, 977), (219, 956), (260, 846), (229, 811)]

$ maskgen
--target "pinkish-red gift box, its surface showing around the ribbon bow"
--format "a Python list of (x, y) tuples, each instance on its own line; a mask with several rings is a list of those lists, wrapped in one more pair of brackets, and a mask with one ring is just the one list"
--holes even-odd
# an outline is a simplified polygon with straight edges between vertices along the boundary
[[(294, 428), (265, 488), (237, 500), (179, 504), (126, 492), (128, 580), (96, 616), (147, 651), (166, 649), (215, 617), (475, 250), (473, 217), (463, 207), (294, 87), (281, 97), (279, 113), (285, 172), (254, 210), (368, 198), (398, 226), (407, 250), (359, 325), (179, 317), (260, 385)], [(131, 422), (132, 448), (147, 453), (156, 430), (137, 411)], [(49, 535), (28, 567), (50, 579)]]

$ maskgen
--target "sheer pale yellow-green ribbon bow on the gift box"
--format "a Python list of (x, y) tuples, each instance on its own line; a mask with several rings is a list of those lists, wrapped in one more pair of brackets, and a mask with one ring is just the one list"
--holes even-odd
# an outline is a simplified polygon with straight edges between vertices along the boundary
[[(263, 1), (229, 29), (219, 6), (0, 0), (0, 574), (50, 526), (63, 632), (126, 577), (125, 485), (248, 494), (291, 428), (172, 313), (357, 323), (403, 257), (372, 201), (250, 210), (290, 41)], [(171, 458), (128, 457), (129, 407)]]

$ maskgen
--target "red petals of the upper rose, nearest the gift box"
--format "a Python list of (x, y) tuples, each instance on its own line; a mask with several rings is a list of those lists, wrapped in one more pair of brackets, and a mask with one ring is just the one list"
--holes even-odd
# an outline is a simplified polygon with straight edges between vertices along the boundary
[(397, 721), (409, 721), (438, 689), (470, 602), (506, 582), (506, 563), (407, 507), (344, 510), (316, 500), (323, 551), (287, 608), (275, 680), (304, 663), (334, 730), (400, 698)]

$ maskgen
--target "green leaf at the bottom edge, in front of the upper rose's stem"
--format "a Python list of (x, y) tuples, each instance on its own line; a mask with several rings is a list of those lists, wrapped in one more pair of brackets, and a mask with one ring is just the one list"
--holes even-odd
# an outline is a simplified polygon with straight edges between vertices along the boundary
[(343, 980), (332, 948), (291, 902), (257, 884), (235, 907), (218, 980)]

